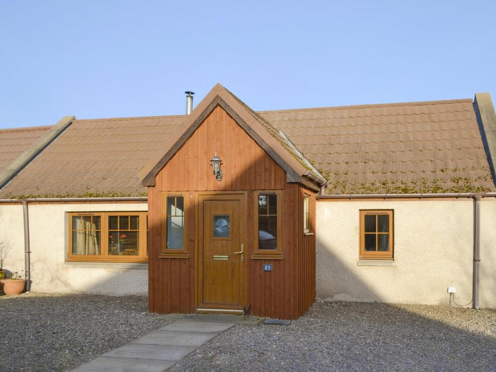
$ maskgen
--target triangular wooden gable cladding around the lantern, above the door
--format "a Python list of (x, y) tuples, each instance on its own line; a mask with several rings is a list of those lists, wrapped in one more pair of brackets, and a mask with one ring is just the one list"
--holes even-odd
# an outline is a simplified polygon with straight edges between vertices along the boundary
[[(210, 159), (221, 158), (222, 181)], [(167, 191), (282, 189), (284, 170), (220, 107), (205, 119), (157, 174)], [(158, 186), (156, 184), (155, 188)]]

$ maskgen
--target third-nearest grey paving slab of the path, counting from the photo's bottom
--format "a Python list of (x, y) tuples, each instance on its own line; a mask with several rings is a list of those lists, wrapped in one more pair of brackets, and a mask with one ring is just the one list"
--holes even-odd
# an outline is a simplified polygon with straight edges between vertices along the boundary
[(131, 344), (198, 347), (217, 335), (218, 332), (181, 332), (157, 330), (131, 341)]

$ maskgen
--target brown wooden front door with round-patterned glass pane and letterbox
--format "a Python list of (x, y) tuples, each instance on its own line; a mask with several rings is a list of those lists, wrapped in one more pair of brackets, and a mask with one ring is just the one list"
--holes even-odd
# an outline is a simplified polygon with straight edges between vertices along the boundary
[(245, 195), (199, 195), (198, 310), (245, 305)]

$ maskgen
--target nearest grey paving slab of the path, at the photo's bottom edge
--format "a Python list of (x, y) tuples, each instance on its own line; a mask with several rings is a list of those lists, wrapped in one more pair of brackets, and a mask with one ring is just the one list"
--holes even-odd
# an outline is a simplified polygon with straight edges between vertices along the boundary
[(175, 364), (176, 361), (98, 357), (72, 372), (163, 372)]

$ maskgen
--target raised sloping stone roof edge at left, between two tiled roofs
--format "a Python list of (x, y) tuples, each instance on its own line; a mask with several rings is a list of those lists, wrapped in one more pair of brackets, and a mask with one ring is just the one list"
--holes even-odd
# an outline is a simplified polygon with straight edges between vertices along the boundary
[(74, 116), (64, 116), (45, 134), (15, 158), (0, 172), (0, 190), (5, 187), (20, 171), (22, 171), (36, 156), (52, 143), (75, 119)]

